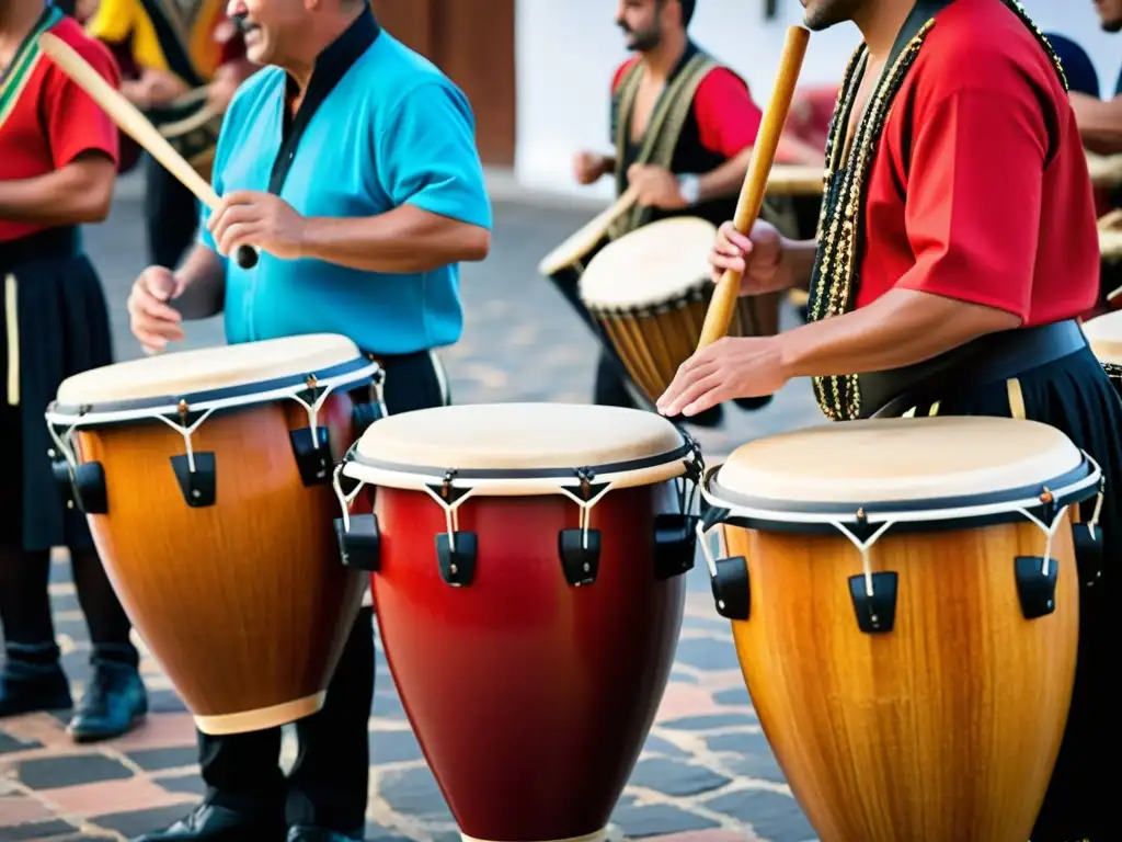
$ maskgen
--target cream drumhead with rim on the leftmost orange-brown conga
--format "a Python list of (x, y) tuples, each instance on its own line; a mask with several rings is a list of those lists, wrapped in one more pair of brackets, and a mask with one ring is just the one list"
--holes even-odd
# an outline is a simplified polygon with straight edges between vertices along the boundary
[(174, 411), (181, 400), (191, 410), (237, 405), (292, 392), (309, 376), (337, 386), (369, 379), (377, 368), (353, 341), (333, 333), (173, 351), (67, 377), (52, 414), (123, 420)]

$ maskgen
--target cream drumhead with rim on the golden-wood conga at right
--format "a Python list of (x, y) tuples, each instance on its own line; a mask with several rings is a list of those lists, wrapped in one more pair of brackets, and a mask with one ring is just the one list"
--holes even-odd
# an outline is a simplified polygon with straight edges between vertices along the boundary
[[(1048, 487), (1078, 500), (1098, 468), (1063, 432), (1008, 418), (874, 419), (813, 427), (737, 448), (703, 494), (775, 523), (870, 522), (1017, 511)], [(891, 515), (891, 516), (890, 516)]]

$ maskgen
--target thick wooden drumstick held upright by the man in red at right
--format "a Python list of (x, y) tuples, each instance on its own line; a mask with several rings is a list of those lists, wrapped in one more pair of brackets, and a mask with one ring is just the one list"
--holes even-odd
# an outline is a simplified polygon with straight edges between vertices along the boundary
[[(733, 226), (741, 234), (747, 234), (752, 229), (752, 223), (756, 221), (763, 207), (767, 176), (775, 159), (775, 149), (783, 132), (783, 123), (787, 122), (787, 113), (791, 108), (794, 85), (799, 81), (809, 40), (810, 30), (806, 27), (792, 26), (787, 30), (787, 42), (780, 56), (779, 76), (775, 79), (775, 88), (764, 111), (760, 135), (752, 149), (748, 172), (744, 176), (741, 196), (736, 202), (736, 213), (733, 216)], [(739, 290), (741, 273), (727, 269), (717, 283), (709, 309), (706, 311), (698, 350), (716, 342), (728, 332)]]

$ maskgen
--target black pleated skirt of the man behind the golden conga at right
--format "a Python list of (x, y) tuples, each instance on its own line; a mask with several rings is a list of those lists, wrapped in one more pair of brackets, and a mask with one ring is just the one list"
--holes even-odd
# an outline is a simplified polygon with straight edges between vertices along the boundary
[[(1079, 649), (1075, 692), (1059, 759), (1040, 811), (1032, 842), (1091, 842), (1122, 839), (1122, 822), (1109, 785), (1107, 745), (1119, 721), (1113, 686), (1115, 641), (1122, 605), (1118, 596), (1122, 558), (1122, 379), (1115, 385), (1089, 349), (1017, 376), (964, 387), (938, 404), (907, 414), (1026, 418), (1061, 430), (1098, 463), (1105, 478), (1100, 515), (1102, 565), (1080, 558)], [(1095, 500), (1084, 504), (1089, 520)], [(1094, 569), (1092, 569), (1094, 567)], [(1029, 724), (1026, 723), (1028, 727)]]

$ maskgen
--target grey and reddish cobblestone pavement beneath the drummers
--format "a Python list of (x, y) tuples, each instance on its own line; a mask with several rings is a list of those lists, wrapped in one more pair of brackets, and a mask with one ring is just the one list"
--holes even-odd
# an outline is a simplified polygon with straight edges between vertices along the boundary
[[(88, 232), (105, 278), (121, 358), (137, 355), (123, 302), (141, 267), (140, 212), (139, 202), (119, 201), (111, 221)], [(595, 348), (535, 266), (588, 214), (518, 205), (497, 205), (496, 213), (493, 256), (465, 272), (465, 338), (443, 354), (454, 400), (586, 403)], [(219, 320), (192, 326), (188, 346), (220, 341)], [(747, 439), (817, 421), (809, 385), (794, 383), (766, 410), (733, 409), (724, 428), (698, 436), (712, 463)], [(89, 642), (64, 555), (57, 557), (50, 587), (65, 666), (80, 695)], [(191, 717), (148, 657), (144, 671), (151, 713), (123, 739), (74, 745), (63, 730), (65, 712), (0, 721), (0, 842), (129, 839), (169, 824), (199, 800)], [(380, 643), (370, 748), (367, 838), (457, 840)], [(285, 762), (293, 750), (286, 739)], [(728, 623), (714, 611), (702, 565), (689, 574), (671, 683), (611, 830), (618, 839), (673, 835), (691, 842), (815, 838), (761, 733)]]

